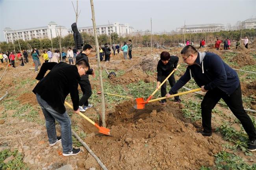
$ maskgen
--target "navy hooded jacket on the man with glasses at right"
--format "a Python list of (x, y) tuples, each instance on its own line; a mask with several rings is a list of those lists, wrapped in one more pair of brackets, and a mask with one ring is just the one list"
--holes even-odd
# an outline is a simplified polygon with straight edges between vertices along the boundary
[(173, 94), (194, 78), (199, 87), (205, 90), (219, 88), (227, 95), (232, 94), (239, 86), (236, 71), (228, 66), (217, 54), (198, 53), (195, 64), (187, 66), (186, 72), (169, 91)]

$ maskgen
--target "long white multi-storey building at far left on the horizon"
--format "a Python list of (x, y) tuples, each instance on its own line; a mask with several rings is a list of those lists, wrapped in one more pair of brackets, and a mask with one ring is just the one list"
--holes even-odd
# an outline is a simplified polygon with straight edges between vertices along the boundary
[(4, 29), (4, 38), (6, 42), (13, 42), (15, 40), (22, 39), (24, 41), (31, 40), (32, 38), (55, 38), (58, 35), (67, 35), (67, 28), (64, 26), (59, 26), (56, 22), (49, 22), (47, 26), (27, 28), (27, 29), (11, 29), (6, 27)]

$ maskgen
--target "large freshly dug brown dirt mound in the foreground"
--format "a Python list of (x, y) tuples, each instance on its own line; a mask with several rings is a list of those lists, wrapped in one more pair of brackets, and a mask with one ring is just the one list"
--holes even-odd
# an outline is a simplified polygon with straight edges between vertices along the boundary
[[(217, 135), (207, 138), (195, 133), (192, 124), (174, 117), (180, 111), (172, 103), (169, 108), (156, 102), (144, 110), (135, 110), (132, 104), (120, 104), (109, 114), (112, 137), (85, 139), (104, 165), (112, 170), (196, 170), (213, 165), (213, 154), (221, 150)], [(88, 158), (85, 168), (89, 164)]]

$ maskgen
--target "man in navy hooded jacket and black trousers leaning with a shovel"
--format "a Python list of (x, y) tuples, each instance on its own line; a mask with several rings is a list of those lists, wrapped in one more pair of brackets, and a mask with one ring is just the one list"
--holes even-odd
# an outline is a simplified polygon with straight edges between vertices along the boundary
[(228, 105), (232, 113), (239, 119), (250, 142), (248, 150), (256, 151), (256, 130), (250, 117), (243, 109), (241, 86), (238, 75), (214, 53), (199, 53), (193, 46), (186, 46), (181, 51), (182, 58), (189, 66), (185, 74), (166, 94), (170, 97), (192, 77), (202, 91), (206, 92), (201, 103), (202, 135), (211, 137), (211, 110), (220, 99)]

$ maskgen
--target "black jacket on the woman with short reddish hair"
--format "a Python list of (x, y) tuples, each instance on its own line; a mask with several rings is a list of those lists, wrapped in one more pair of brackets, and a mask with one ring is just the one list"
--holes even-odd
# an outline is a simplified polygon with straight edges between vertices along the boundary
[(168, 76), (174, 68), (177, 67), (179, 57), (171, 55), (171, 58), (167, 64), (163, 64), (162, 60), (158, 61), (157, 64), (157, 81), (161, 82), (161, 76)]

